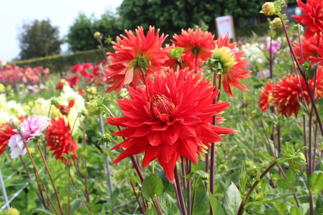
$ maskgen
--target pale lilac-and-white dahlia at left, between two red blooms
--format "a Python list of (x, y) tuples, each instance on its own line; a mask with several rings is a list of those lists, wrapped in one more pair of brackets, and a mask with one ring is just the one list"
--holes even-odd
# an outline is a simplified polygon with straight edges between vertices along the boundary
[(49, 124), (49, 118), (46, 116), (39, 115), (32, 118), (28, 116), (26, 119), (24, 119), (24, 121), (19, 125), (20, 133), (18, 132), (18, 129), (12, 130), (16, 132), (16, 134), (11, 136), (8, 143), (11, 151), (11, 158), (16, 158), (19, 155), (26, 154), (24, 142), (28, 145), (30, 140), (36, 136), (40, 136)]

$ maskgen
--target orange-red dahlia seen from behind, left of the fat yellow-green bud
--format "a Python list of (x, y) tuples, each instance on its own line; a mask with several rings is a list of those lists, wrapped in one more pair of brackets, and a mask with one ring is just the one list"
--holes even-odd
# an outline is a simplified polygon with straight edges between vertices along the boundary
[[(177, 47), (184, 48), (183, 54), (192, 56), (193, 59), (197, 57), (199, 60), (207, 61), (211, 57), (210, 51), (214, 49), (214, 35), (211, 32), (203, 31), (201, 28), (195, 31), (191, 28), (188, 31), (182, 29), (182, 34), (174, 34), (171, 40)], [(201, 61), (201, 64), (202, 64)], [(199, 64), (198, 66), (200, 66)]]

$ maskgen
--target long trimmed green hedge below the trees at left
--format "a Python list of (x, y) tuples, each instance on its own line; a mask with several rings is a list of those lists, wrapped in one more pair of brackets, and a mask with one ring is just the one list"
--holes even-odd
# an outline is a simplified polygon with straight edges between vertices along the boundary
[[(112, 47), (109, 51), (112, 51)], [(44, 68), (48, 67), (50, 73), (61, 73), (68, 71), (70, 67), (75, 64), (82, 64), (82, 63), (97, 63), (99, 61), (103, 61), (104, 56), (101, 49), (94, 49), (89, 51), (82, 51), (77, 52), (74, 54), (67, 54), (67, 55), (53, 55), (48, 57), (40, 57), (25, 61), (14, 61), (9, 62), (8, 64), (16, 64), (17, 66), (24, 67), (36, 67), (42, 66)]]

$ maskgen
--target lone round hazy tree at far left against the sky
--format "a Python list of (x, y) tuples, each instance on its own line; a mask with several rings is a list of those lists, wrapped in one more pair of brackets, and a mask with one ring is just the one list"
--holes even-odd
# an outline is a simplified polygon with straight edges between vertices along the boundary
[(24, 24), (22, 32), (18, 35), (21, 59), (59, 54), (63, 41), (59, 39), (58, 34), (58, 27), (53, 27), (49, 19)]

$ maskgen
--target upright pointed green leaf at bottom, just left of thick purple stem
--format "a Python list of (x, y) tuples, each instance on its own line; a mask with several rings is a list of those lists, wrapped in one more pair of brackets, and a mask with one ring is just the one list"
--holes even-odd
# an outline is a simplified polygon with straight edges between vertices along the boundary
[(210, 206), (209, 204), (205, 204), (205, 202), (208, 202), (209, 197), (207, 192), (205, 192), (202, 177), (198, 177), (198, 181), (196, 181), (195, 186), (193, 187), (195, 187), (195, 197), (192, 215), (205, 215)]

